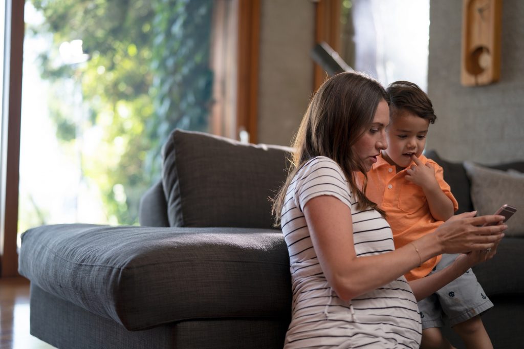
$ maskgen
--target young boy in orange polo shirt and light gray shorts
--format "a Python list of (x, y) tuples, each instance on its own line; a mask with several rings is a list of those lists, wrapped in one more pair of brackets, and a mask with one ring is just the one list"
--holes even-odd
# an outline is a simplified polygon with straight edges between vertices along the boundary
[[(422, 155), (429, 124), (435, 122), (433, 105), (414, 83), (397, 81), (390, 96), (388, 147), (367, 173), (366, 196), (384, 210), (396, 248), (433, 232), (449, 219), (458, 205), (444, 181), (442, 168)], [(453, 263), (458, 255), (442, 255), (411, 270), (408, 281), (423, 278)], [(442, 336), (442, 312), (468, 348), (493, 348), (479, 316), (493, 307), (473, 271), (418, 303), (422, 320), (421, 348), (451, 348)]]

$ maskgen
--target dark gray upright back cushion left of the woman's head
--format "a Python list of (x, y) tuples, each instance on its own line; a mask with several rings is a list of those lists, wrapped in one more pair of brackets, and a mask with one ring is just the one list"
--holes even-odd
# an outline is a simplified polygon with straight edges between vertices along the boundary
[(174, 130), (163, 148), (170, 226), (271, 228), (291, 148)]

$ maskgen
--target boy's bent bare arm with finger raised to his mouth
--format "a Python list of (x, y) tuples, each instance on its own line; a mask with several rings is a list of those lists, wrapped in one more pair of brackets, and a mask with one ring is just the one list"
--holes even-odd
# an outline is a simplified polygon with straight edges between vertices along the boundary
[(422, 188), (433, 218), (438, 221), (447, 221), (454, 213), (453, 201), (440, 188), (435, 177), (435, 169), (429, 163), (424, 165), (414, 155), (411, 158), (415, 165), (406, 170), (408, 173), (406, 180)]

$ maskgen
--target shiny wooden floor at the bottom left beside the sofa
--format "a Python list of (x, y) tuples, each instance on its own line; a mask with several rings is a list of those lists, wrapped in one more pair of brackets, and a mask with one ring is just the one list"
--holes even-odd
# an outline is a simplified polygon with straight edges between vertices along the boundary
[(29, 334), (29, 281), (0, 278), (0, 349), (53, 349)]

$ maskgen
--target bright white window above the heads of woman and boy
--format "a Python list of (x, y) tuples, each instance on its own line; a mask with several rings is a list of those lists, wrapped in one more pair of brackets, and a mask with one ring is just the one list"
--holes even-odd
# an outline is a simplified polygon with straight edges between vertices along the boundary
[(429, 0), (343, 0), (341, 57), (388, 85), (428, 86)]

